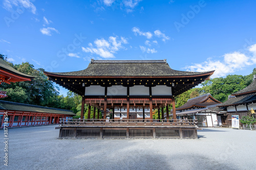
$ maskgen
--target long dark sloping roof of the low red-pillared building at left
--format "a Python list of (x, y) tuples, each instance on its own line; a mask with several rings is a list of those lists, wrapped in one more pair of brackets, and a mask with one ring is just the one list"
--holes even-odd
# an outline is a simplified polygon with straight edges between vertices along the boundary
[(7, 101), (0, 101), (0, 109), (14, 110), (14, 111), (75, 115), (75, 113), (73, 113), (73, 111), (71, 111), (71, 110), (56, 109), (56, 108), (50, 108), (50, 107), (42, 107), (42, 106), (28, 105), (28, 104), (7, 102)]

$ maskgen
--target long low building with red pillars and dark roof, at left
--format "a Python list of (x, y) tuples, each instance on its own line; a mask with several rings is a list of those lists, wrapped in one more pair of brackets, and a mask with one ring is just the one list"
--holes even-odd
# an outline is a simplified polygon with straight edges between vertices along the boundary
[(60, 118), (72, 118), (75, 113), (36, 105), (0, 101), (0, 127), (4, 127), (4, 114), (7, 113), (7, 127), (28, 127), (59, 124)]

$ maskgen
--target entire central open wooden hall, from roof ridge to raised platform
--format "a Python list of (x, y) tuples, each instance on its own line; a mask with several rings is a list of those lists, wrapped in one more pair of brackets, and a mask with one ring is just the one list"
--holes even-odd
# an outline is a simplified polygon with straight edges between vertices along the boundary
[[(185, 123), (176, 119), (174, 98), (208, 80), (214, 71), (178, 71), (170, 68), (166, 59), (92, 59), (84, 70), (44, 73), (49, 80), (82, 96), (80, 119), (63, 120), (58, 128), (60, 138), (186, 138), (189, 134), (197, 138), (195, 120)], [(89, 106), (88, 117), (83, 117), (85, 104)], [(169, 117), (170, 106), (173, 117)], [(103, 119), (96, 118), (96, 108), (103, 111)], [(153, 110), (160, 108), (161, 116), (153, 119)], [(106, 119), (107, 109), (112, 110), (112, 119)]]

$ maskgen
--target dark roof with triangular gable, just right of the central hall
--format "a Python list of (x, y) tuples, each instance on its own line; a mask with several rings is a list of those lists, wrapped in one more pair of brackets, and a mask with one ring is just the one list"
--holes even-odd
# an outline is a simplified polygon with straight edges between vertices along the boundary
[[(200, 95), (200, 96), (197, 96), (196, 98), (189, 99), (187, 101), (187, 103), (185, 103), (181, 107), (177, 108), (176, 110), (188, 109), (188, 108), (191, 108), (191, 107), (194, 107), (194, 106), (207, 107), (207, 106), (217, 105), (217, 104), (221, 103), (219, 101), (218, 102), (211, 102), (211, 103), (207, 103), (207, 102), (203, 103), (208, 98), (214, 99), (214, 98), (212, 98), (212, 96), (209, 93), (204, 94), (204, 95)], [(214, 99), (214, 100), (216, 100), (216, 99)]]

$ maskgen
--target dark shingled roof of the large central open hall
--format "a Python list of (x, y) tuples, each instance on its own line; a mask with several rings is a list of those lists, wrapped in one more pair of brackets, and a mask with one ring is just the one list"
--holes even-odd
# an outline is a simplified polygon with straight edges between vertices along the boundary
[(80, 71), (49, 72), (62, 76), (190, 76), (205, 72), (178, 71), (169, 67), (166, 60), (93, 60)]

